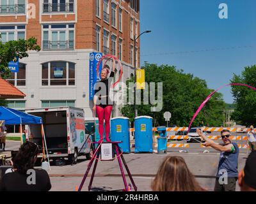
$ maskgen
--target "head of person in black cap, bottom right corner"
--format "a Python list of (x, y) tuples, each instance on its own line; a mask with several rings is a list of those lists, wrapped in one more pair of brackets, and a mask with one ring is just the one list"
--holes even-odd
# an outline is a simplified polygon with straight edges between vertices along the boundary
[(250, 154), (244, 169), (239, 172), (238, 183), (241, 191), (256, 191), (256, 151)]

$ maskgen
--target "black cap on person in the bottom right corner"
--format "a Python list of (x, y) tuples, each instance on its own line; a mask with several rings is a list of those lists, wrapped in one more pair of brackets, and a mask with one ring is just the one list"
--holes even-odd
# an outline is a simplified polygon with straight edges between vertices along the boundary
[(244, 183), (256, 189), (256, 151), (253, 151), (246, 160), (244, 166)]

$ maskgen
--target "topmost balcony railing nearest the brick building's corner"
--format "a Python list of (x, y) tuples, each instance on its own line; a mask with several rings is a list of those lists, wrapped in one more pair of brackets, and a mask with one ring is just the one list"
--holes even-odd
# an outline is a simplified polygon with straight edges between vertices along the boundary
[(72, 13), (74, 12), (74, 3), (44, 3), (43, 4), (43, 12), (44, 13)]

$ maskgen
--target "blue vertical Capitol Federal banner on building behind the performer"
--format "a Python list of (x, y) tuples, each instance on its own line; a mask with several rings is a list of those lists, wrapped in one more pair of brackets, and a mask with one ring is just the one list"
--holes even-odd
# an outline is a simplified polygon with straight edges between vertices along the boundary
[[(94, 96), (94, 85), (96, 82), (100, 81), (100, 76), (97, 76), (97, 63), (100, 61), (102, 58), (102, 53), (101, 52), (91, 52), (90, 53), (90, 84), (89, 84), (89, 92), (90, 92), (90, 100), (93, 100)], [(99, 67), (99, 74), (102, 69), (102, 62), (100, 63)]]

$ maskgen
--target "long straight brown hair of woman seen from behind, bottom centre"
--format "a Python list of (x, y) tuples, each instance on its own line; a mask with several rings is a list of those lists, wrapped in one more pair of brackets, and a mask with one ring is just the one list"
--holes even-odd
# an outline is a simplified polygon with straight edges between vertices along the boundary
[(184, 159), (166, 157), (152, 182), (153, 191), (204, 191), (189, 171)]

